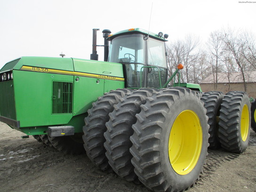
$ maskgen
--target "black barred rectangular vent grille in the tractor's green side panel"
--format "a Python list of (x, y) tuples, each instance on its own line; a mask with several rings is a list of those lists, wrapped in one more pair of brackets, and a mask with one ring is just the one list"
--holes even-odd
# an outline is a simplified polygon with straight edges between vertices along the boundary
[(73, 83), (53, 81), (52, 113), (72, 113)]

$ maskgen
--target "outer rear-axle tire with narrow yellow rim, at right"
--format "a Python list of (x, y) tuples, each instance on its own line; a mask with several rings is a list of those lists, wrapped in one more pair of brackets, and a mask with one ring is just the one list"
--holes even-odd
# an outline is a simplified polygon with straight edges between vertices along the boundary
[(225, 150), (235, 153), (246, 150), (250, 135), (250, 112), (250, 102), (246, 92), (226, 93), (219, 117), (219, 139)]

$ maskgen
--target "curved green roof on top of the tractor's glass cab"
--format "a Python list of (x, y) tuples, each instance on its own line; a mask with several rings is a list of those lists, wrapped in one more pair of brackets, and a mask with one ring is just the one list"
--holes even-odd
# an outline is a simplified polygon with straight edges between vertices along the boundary
[(152, 37), (154, 39), (157, 39), (157, 40), (161, 40), (161, 41), (168, 41), (166, 40), (164, 37), (159, 37), (158, 34), (156, 33), (152, 33), (152, 32), (149, 32), (149, 31), (146, 31), (144, 29), (140, 29), (140, 28), (132, 28), (132, 29), (127, 29), (127, 30), (123, 30), (123, 31), (120, 31), (120, 32), (116, 32), (112, 35), (110, 35), (107, 40), (112, 40), (120, 35), (126, 35), (126, 34), (143, 34), (143, 35), (149, 35), (149, 37)]

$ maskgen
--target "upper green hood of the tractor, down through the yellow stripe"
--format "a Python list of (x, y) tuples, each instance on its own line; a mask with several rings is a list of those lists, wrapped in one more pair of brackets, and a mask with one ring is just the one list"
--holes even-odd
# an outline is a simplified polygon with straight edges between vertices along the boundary
[[(5, 64), (0, 72), (10, 70), (47, 72), (89, 77), (90, 74), (93, 74), (91, 77), (99, 79), (112, 79), (111, 77), (123, 78), (122, 64), (77, 58), (24, 56)], [(99, 75), (100, 77), (96, 75)]]

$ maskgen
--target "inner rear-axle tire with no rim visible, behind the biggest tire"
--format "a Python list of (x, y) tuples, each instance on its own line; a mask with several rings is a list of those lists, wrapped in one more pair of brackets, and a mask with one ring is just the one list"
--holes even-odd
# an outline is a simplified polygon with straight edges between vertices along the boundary
[(218, 149), (220, 148), (220, 141), (218, 138), (218, 129), (219, 129), (219, 115), (220, 115), (220, 105), (224, 93), (220, 91), (209, 91), (203, 93), (201, 100), (204, 102), (204, 107), (206, 108), (208, 116), (208, 125), (209, 128), (209, 148)]

